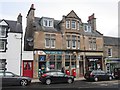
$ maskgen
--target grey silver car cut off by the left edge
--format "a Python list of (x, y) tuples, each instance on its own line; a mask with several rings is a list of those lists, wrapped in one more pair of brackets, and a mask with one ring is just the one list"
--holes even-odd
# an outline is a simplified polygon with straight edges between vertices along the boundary
[(21, 85), (27, 86), (31, 83), (31, 78), (18, 76), (12, 72), (1, 71), (0, 80), (2, 80), (2, 85)]

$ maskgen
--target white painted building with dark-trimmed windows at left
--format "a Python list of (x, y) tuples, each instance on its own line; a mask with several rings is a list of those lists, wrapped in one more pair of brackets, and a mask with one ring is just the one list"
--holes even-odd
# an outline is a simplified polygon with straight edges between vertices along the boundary
[(17, 21), (0, 20), (0, 62), (6, 62), (7, 71), (18, 75), (22, 73), (22, 35), (21, 14)]

